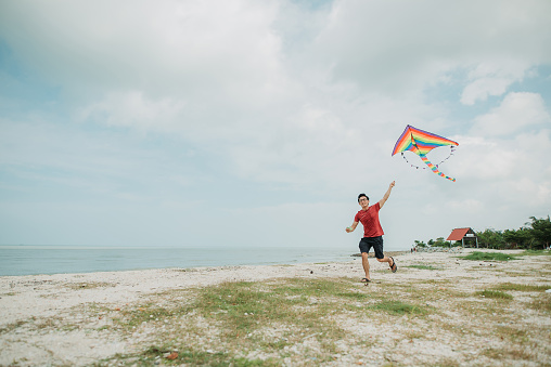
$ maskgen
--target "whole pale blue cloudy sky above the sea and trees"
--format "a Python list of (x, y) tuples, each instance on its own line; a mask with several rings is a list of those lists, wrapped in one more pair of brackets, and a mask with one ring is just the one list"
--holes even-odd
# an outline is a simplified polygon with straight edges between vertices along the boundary
[[(393, 180), (386, 249), (517, 228), (549, 44), (546, 0), (0, 1), (0, 244), (356, 250)], [(407, 124), (456, 183), (390, 156)]]

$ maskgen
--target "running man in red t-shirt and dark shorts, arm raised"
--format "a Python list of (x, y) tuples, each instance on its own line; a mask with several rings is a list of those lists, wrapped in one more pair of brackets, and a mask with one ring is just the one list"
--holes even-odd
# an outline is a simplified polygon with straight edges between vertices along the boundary
[(387, 262), (393, 273), (396, 273), (398, 270), (394, 259), (392, 257), (386, 257), (383, 253), (384, 232), (381, 227), (381, 223), (379, 222), (379, 211), (383, 208), (386, 200), (388, 200), (394, 185), (395, 182), (393, 181), (383, 198), (371, 207), (369, 206), (369, 197), (366, 194), (358, 195), (358, 204), (360, 205), (361, 210), (358, 211), (356, 217), (354, 217), (353, 225), (346, 228), (346, 232), (350, 233), (356, 230), (358, 222), (361, 222), (363, 225), (363, 238), (360, 240), (360, 252), (361, 264), (363, 265), (363, 271), (366, 272), (366, 277), (361, 279), (361, 281), (366, 283), (366, 285), (371, 281), (371, 277), (369, 275), (368, 253), (372, 247), (375, 250), (375, 258), (379, 262)]

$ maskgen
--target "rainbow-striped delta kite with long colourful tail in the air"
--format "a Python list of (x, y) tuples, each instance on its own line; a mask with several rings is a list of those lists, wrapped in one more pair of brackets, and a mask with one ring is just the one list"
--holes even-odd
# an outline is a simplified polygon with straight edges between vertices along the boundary
[[(446, 174), (438, 171), (438, 165), (440, 165), (444, 160), (447, 160), (449, 158), (449, 156), (448, 156), (448, 158), (444, 159), (438, 165), (433, 165), (428, 160), (428, 158), (426, 158), (426, 154), (428, 152), (431, 152), (432, 149), (437, 148), (439, 146), (446, 146), (446, 145), (450, 145), (451, 154), (453, 154), (456, 146), (458, 146), (459, 144), (456, 143), (454, 141), (449, 140), (449, 139), (446, 139), (446, 137), (443, 137), (443, 136), (439, 136), (439, 135), (436, 135), (436, 134), (433, 134), (431, 132), (426, 132), (426, 131), (423, 131), (420, 129), (415, 129), (412, 126), (408, 124), (406, 127), (406, 130), (403, 130), (400, 137), (396, 142), (396, 145), (394, 146), (393, 156), (397, 153), (401, 153), (401, 156), (403, 157), (403, 159), (406, 159), (406, 161), (408, 161), (406, 156), (403, 156), (403, 152), (406, 152), (406, 150), (413, 152), (419, 157), (421, 157), (421, 160), (426, 166), (428, 166), (428, 168), (434, 173), (436, 173), (439, 176), (443, 176), (445, 179), (448, 179), (452, 182), (456, 182), (456, 179), (449, 178)], [(450, 156), (451, 156), (451, 154), (450, 154)], [(411, 165), (411, 166), (417, 167), (413, 165)], [(419, 168), (419, 167), (417, 167), (417, 168)]]

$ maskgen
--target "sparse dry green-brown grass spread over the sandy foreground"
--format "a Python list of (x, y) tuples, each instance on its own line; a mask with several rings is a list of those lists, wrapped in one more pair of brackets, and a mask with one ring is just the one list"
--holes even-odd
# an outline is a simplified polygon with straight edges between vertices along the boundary
[[(432, 288), (426, 288), (427, 285)], [(428, 364), (434, 366), (478, 363), (476, 358), (480, 356), (486, 358), (483, 365), (499, 361), (529, 362), (536, 355), (530, 349), (542, 350), (536, 341), (546, 337), (544, 332), (538, 335), (529, 332), (527, 326), (503, 325), (504, 319), (518, 318), (513, 310), (504, 309), (515, 301), (510, 294), (495, 290), (540, 292), (540, 287), (500, 284), (495, 289), (474, 293), (458, 291), (449, 281), (381, 287), (384, 291), (373, 292), (370, 287), (359, 287), (356, 279), (292, 278), (226, 283), (193, 291), (159, 293), (151, 303), (120, 312), (114, 318), (128, 338), (149, 335), (149, 346), (101, 364), (137, 361), (210, 366), (277, 366), (282, 361), (298, 365), (331, 364), (343, 354), (356, 353), (350, 345), (369, 351), (388, 343), (377, 336), (377, 329), (384, 330), (395, 345), (402, 339), (423, 343), (438, 342), (441, 338), (450, 342), (470, 340), (471, 348), (479, 349), (475, 355), (465, 350), (459, 359), (437, 357), (434, 364)], [(182, 294), (187, 302), (174, 302), (181, 300)], [(538, 304), (548, 301), (538, 300)], [(536, 309), (541, 314), (548, 312), (546, 306)], [(343, 319), (351, 326), (343, 327)], [(403, 323), (408, 326), (406, 330), (400, 327)], [(368, 328), (370, 324), (374, 326), (370, 335), (350, 331), (354, 325), (362, 330), (361, 327)], [(501, 346), (482, 348), (479, 341), (487, 338), (497, 338)], [(517, 348), (507, 346), (510, 343)], [(543, 351), (547, 349), (543, 346)], [(178, 353), (178, 357), (167, 359), (170, 353)], [(398, 365), (393, 361), (387, 363)]]

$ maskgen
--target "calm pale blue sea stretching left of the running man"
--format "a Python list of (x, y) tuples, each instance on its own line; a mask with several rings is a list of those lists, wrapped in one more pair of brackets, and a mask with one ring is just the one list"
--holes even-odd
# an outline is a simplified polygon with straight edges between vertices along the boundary
[(351, 248), (0, 246), (0, 276), (349, 261)]

